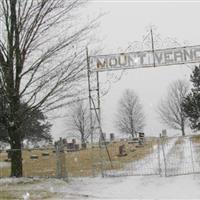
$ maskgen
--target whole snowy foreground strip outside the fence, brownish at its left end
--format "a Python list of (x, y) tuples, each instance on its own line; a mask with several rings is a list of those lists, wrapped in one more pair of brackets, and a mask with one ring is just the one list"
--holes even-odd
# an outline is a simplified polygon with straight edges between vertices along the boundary
[(0, 180), (0, 187), (1, 199), (200, 199), (200, 175), (96, 177), (70, 183), (7, 178)]

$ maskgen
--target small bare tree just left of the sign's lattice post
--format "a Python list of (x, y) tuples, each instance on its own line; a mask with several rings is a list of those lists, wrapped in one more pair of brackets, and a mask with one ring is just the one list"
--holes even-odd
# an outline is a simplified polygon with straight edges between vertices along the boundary
[[(93, 119), (95, 118), (93, 117)], [(81, 144), (83, 146), (87, 142), (92, 131), (90, 129), (89, 108), (83, 101), (78, 101), (73, 105), (66, 124), (70, 131), (73, 131), (76, 136), (81, 138)], [(94, 120), (92, 126), (95, 126)]]

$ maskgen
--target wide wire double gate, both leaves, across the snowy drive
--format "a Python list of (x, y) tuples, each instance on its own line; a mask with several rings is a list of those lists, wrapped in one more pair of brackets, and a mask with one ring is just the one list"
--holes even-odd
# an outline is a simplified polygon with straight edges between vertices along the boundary
[[(114, 148), (114, 147), (113, 147)], [(103, 176), (177, 176), (200, 173), (200, 137), (162, 137), (151, 146), (128, 152), (130, 159), (103, 159)]]

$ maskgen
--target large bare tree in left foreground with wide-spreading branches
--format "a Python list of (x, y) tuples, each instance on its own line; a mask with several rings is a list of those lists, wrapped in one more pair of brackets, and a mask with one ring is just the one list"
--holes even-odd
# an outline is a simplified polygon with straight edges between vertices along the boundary
[[(1, 0), (0, 87), (6, 98), (11, 176), (22, 176), (20, 103), (49, 111), (77, 94), (85, 45), (95, 20), (84, 23), (79, 0)], [(26, 112), (26, 110), (24, 111)]]

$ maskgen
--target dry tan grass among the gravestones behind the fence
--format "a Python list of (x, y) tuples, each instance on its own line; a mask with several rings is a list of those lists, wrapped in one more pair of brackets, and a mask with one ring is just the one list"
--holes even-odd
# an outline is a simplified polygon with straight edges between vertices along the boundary
[[(119, 146), (124, 144), (126, 147), (127, 156), (118, 156)], [(92, 165), (95, 168), (95, 173), (99, 173), (101, 168), (119, 169), (126, 163), (134, 160), (139, 160), (153, 151), (153, 145), (156, 144), (155, 138), (147, 139), (144, 147), (136, 148), (135, 144), (128, 144), (127, 141), (108, 144), (108, 150), (112, 160), (112, 166), (109, 162), (106, 149), (99, 147), (88, 148), (76, 152), (66, 152), (64, 159), (69, 176), (90, 176), (93, 174)], [(42, 156), (42, 152), (48, 152), (49, 156)], [(56, 176), (56, 154), (53, 150), (32, 150), (23, 151), (23, 173), (24, 176), (32, 177), (55, 177)], [(37, 160), (30, 159), (31, 155), (38, 155)], [(7, 158), (7, 153), (0, 153), (0, 161)], [(103, 165), (102, 165), (103, 164)], [(0, 176), (5, 177), (10, 175), (10, 167), (0, 169)]]

